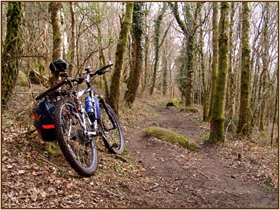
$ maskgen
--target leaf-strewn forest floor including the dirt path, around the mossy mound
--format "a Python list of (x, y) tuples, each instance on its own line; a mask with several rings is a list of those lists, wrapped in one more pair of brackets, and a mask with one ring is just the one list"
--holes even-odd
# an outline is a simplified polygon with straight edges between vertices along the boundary
[[(11, 109), (2, 113), (4, 209), (279, 209), (278, 147), (230, 133), (225, 145), (207, 144), (203, 139), (209, 123), (202, 122), (201, 113), (166, 109), (162, 97), (138, 98), (132, 109), (120, 114), (124, 155), (110, 155), (98, 141), (97, 172), (83, 178), (69, 167), (57, 144), (43, 142), (32, 132), (25, 98), (18, 94)], [(145, 137), (141, 130), (149, 126), (174, 130), (200, 148), (188, 151)]]

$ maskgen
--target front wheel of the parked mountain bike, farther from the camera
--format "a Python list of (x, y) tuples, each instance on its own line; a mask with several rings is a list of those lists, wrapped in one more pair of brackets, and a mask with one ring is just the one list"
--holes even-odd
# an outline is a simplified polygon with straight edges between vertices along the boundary
[(106, 104), (107, 111), (100, 106), (99, 126), (102, 128), (102, 139), (108, 151), (113, 154), (121, 155), (125, 149), (125, 141), (120, 122), (116, 113), (109, 104)]

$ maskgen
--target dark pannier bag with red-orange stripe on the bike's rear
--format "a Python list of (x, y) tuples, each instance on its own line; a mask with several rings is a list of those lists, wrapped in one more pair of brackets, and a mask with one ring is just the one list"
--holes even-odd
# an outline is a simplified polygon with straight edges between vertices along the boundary
[(38, 107), (32, 109), (34, 115), (34, 126), (44, 141), (55, 141), (55, 125), (53, 124), (52, 113), (55, 104), (49, 100), (42, 99)]

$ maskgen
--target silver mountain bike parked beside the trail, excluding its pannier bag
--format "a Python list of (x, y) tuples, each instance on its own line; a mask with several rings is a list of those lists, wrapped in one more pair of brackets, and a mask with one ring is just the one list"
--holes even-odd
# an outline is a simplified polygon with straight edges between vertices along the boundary
[[(121, 155), (124, 151), (118, 117), (104, 97), (94, 93), (90, 83), (90, 78), (103, 75), (112, 65), (109, 62), (94, 73), (88, 67), (82, 78), (71, 78), (65, 71), (59, 72), (64, 79), (36, 97), (36, 100), (44, 98), (55, 103), (52, 117), (56, 139), (69, 165), (81, 176), (92, 176), (97, 170), (95, 138), (101, 137), (110, 153)], [(82, 83), (87, 88), (78, 90), (76, 85)]]

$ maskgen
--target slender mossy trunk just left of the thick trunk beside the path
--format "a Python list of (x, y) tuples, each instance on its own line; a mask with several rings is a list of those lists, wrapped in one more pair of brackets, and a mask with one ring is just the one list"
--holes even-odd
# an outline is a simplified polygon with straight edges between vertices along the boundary
[(216, 89), (216, 79), (217, 79), (217, 68), (218, 68), (218, 3), (213, 2), (213, 21), (212, 21), (212, 45), (213, 45), (213, 56), (211, 64), (211, 92), (210, 92), (210, 102), (209, 102), (209, 119), (212, 116), (214, 94)]

